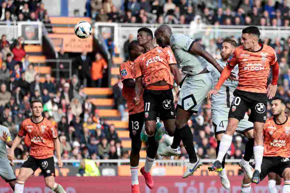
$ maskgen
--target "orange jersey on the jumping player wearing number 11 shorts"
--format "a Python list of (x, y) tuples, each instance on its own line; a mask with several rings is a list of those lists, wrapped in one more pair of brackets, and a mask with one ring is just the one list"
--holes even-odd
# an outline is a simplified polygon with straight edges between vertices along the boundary
[(134, 74), (136, 78), (143, 76), (145, 87), (164, 80), (173, 88), (174, 80), (169, 65), (176, 64), (171, 48), (156, 46), (140, 55), (135, 61)]

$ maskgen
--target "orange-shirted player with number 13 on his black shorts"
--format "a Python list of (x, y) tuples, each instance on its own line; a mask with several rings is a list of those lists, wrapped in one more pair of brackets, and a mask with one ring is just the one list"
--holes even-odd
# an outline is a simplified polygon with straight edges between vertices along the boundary
[(144, 52), (144, 48), (139, 46), (137, 40), (131, 41), (128, 45), (129, 60), (125, 61), (120, 66), (120, 76), (124, 84), (122, 93), (127, 100), (129, 111), (129, 131), (131, 138), (131, 153), (130, 153), (130, 165), (131, 165), (131, 188), (132, 193), (139, 193), (139, 181), (138, 181), (138, 168), (139, 168), (139, 152), (141, 150), (142, 141), (140, 139), (140, 133), (144, 124), (144, 102), (142, 95), (140, 96), (140, 102), (136, 106), (133, 103), (133, 97), (135, 96), (135, 75), (133, 74), (133, 68), (135, 63), (133, 62), (138, 56)]

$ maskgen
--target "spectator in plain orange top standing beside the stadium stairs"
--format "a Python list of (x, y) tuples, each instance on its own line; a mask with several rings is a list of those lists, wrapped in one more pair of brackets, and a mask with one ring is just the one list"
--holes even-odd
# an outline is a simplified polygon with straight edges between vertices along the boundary
[(101, 54), (96, 53), (95, 61), (92, 63), (91, 76), (92, 76), (92, 87), (101, 87), (103, 70), (107, 69), (108, 65)]

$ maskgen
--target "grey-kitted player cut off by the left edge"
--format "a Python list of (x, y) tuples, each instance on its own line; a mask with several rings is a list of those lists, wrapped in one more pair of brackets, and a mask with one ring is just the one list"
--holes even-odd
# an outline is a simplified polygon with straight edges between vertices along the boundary
[(7, 159), (6, 145), (12, 146), (12, 139), (10, 131), (7, 127), (0, 125), (0, 176), (9, 183), (12, 190), (14, 191), (16, 177), (12, 167)]

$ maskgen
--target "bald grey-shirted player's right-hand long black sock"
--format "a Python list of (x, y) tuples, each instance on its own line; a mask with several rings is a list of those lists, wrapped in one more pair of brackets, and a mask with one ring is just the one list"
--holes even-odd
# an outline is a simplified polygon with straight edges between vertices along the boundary
[(189, 162), (195, 163), (197, 162), (197, 156), (195, 153), (194, 145), (193, 145), (193, 135), (191, 133), (191, 129), (188, 125), (179, 129), (180, 137), (184, 144), (187, 154), (189, 155)]

